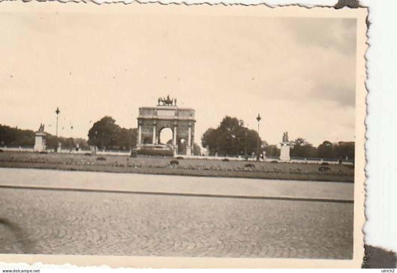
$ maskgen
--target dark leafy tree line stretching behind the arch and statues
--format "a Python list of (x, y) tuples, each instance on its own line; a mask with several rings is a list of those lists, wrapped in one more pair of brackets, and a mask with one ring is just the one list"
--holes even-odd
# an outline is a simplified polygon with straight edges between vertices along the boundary
[[(137, 144), (138, 130), (136, 128), (126, 129), (116, 124), (116, 121), (105, 116), (93, 124), (88, 132), (88, 140), (83, 138), (65, 138), (46, 133), (46, 144), (48, 147), (57, 146), (60, 142), (63, 148), (79, 148), (88, 150), (89, 146), (108, 150), (130, 150)], [(0, 124), (1, 146), (33, 146), (35, 144), (35, 132), (32, 130), (21, 130)], [(354, 159), (354, 142), (331, 143), (325, 140), (322, 144), (314, 147), (304, 138), (296, 138), (290, 142), (290, 156), (296, 158), (333, 158)], [(244, 126), (244, 121), (237, 117), (226, 116), (218, 127), (209, 128), (201, 138), (202, 147), (208, 150), (212, 156), (245, 156), (252, 154), (265, 154), (269, 157), (278, 157), (280, 148), (275, 144), (268, 144), (262, 140), (255, 130)], [(194, 154), (200, 154), (200, 147), (194, 144)]]

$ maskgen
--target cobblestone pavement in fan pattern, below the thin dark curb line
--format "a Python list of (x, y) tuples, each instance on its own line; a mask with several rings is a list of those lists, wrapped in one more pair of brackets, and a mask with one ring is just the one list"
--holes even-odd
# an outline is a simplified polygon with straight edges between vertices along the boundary
[[(0, 253), (350, 259), (353, 204), (0, 188)], [(1, 219), (0, 219), (1, 220)]]

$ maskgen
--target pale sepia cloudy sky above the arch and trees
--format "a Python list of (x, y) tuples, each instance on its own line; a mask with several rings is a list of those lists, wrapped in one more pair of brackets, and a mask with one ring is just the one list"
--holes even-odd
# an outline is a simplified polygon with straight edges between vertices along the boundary
[(354, 140), (355, 19), (1, 12), (0, 28), (1, 124), (55, 134), (59, 107), (59, 135), (87, 138), (170, 95), (196, 110), (197, 143), (258, 113), (270, 144)]

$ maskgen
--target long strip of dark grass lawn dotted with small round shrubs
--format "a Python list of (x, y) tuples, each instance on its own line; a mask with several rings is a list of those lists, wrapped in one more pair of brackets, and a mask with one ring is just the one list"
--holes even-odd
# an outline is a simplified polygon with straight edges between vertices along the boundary
[[(105, 160), (98, 160), (104, 158)], [(243, 177), (259, 179), (313, 180), (353, 182), (354, 169), (330, 165), (329, 171), (318, 171), (314, 163), (271, 163), (126, 156), (84, 156), (74, 154), (38, 154), (24, 152), (0, 153), (0, 167), (60, 169), (70, 171), (106, 171), (211, 177)], [(247, 163), (252, 167), (245, 167)]]

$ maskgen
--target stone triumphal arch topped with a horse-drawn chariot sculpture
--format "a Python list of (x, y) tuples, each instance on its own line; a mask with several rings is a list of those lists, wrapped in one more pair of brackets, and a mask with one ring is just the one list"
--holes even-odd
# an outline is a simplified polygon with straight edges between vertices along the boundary
[[(177, 100), (158, 98), (157, 106), (139, 108), (137, 149), (161, 150), (171, 148), (173, 154), (190, 156), (195, 136), (195, 110), (179, 108)], [(172, 140), (160, 139), (164, 129), (171, 129)], [(165, 143), (164, 143), (165, 142)]]

